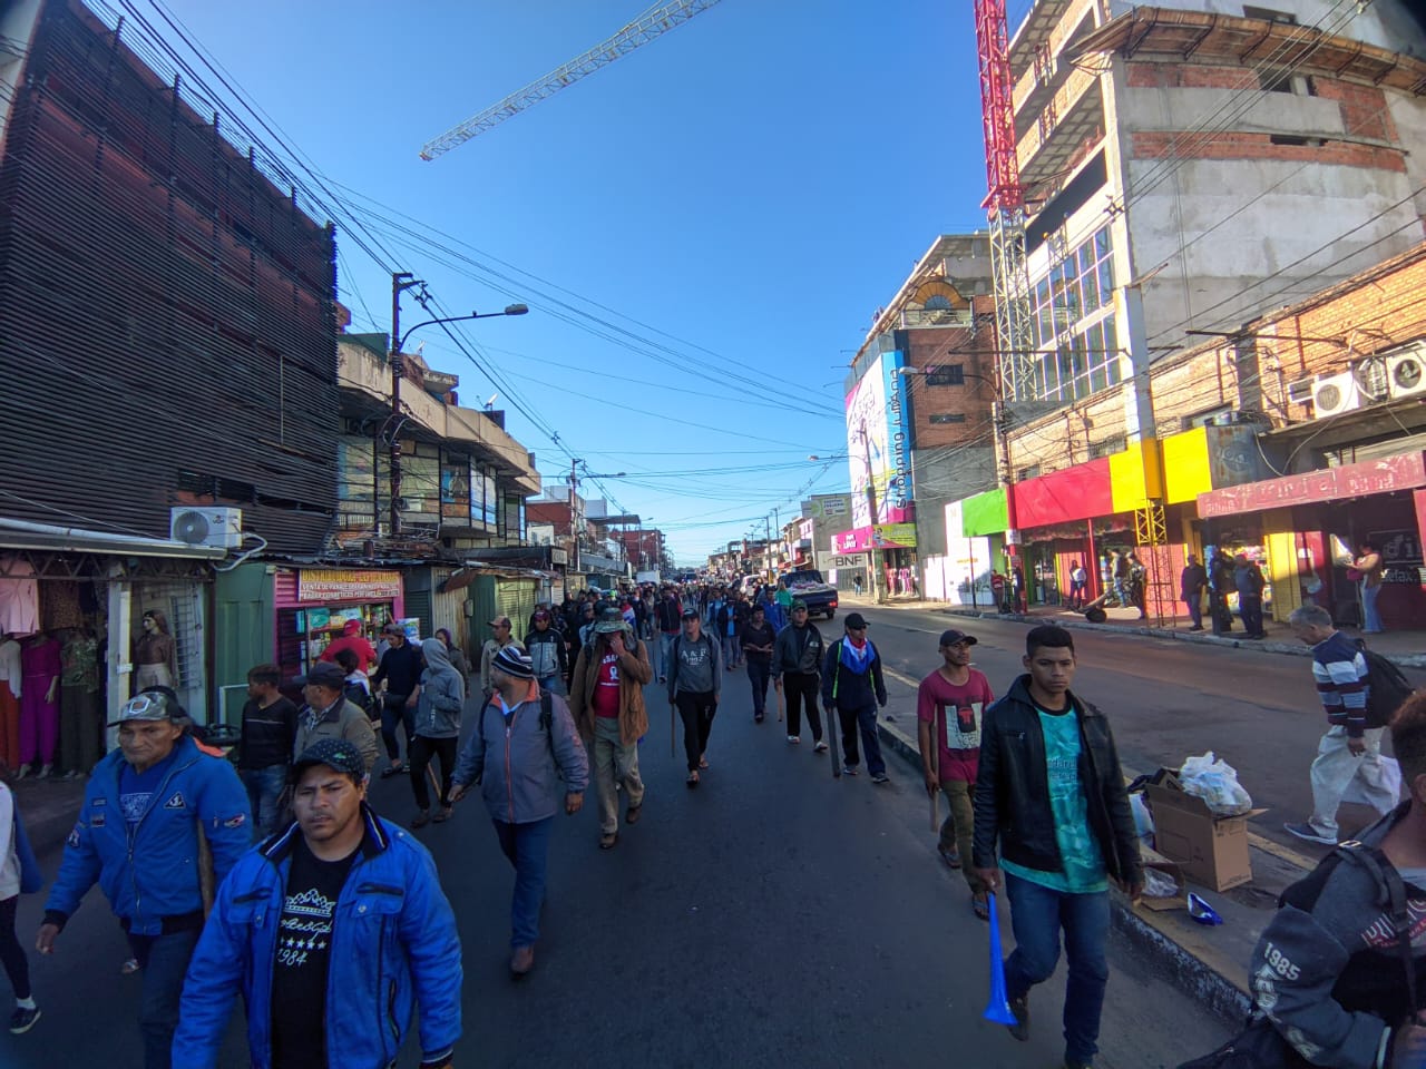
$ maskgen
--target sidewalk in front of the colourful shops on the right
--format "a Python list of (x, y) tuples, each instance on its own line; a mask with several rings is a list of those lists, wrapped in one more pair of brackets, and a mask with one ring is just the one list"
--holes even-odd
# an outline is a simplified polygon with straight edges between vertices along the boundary
[[(1261, 650), (1263, 653), (1289, 654), (1293, 657), (1310, 657), (1312, 651), (1292, 634), (1292, 629), (1275, 620), (1265, 620), (1263, 630), (1266, 639), (1248, 639), (1242, 624), (1233, 620), (1233, 630), (1218, 637), (1212, 631), (1188, 630), (1188, 617), (1169, 620), (1165, 617), (1161, 627), (1152, 617), (1138, 619), (1137, 609), (1107, 609), (1108, 621), (1102, 624), (1089, 623), (1084, 613), (1060, 606), (1031, 606), (1027, 613), (997, 613), (992, 609), (973, 609), (971, 606), (950, 604), (947, 601), (923, 601), (911, 597), (893, 597), (877, 604), (870, 597), (856, 597), (843, 594), (841, 607), (858, 609), (920, 609), (925, 613), (948, 613), (953, 616), (970, 616), (985, 620), (1005, 620), (1011, 623), (1057, 623), (1061, 627), (1085, 627), (1095, 631), (1111, 631), (1117, 634), (1141, 634), (1151, 639), (1176, 639), (1179, 641), (1201, 643), (1204, 646), (1229, 646), (1243, 650)], [(1355, 627), (1343, 627), (1342, 633), (1356, 639), (1360, 636)], [(1383, 657), (1395, 661), (1403, 668), (1426, 668), (1426, 631), (1383, 631), (1369, 636), (1368, 644)]]

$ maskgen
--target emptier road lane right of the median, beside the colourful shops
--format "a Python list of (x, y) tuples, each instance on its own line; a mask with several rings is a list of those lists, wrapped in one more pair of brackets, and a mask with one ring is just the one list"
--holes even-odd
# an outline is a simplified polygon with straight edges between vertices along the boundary
[[(954, 617), (935, 610), (863, 610), (886, 663), (908, 680), (920, 680), (938, 663), (935, 643), (945, 627), (980, 639), (975, 664), (1001, 694), (1024, 671), (1022, 623)], [(841, 619), (821, 623), (824, 634), (840, 634)], [(1268, 812), (1253, 820), (1261, 835), (1309, 857), (1318, 848), (1288, 835), (1286, 820), (1305, 820), (1312, 810), (1308, 767), (1326, 727), (1306, 657), (1261, 653), (1075, 629), (1079, 664), (1074, 688), (1111, 718), (1121, 760), (1135, 771), (1182, 764), (1191, 754), (1215, 751), (1238, 770), (1255, 805)], [(1415, 684), (1426, 673), (1407, 670)], [(898, 681), (890, 711), (914, 731), (914, 688)], [(1387, 750), (1389, 750), (1387, 744)], [(1363, 805), (1343, 805), (1343, 837), (1375, 820)]]

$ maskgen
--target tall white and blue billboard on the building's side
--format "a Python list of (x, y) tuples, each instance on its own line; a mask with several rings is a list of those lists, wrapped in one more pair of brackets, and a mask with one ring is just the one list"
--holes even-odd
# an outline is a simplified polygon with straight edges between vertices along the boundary
[[(911, 425), (900, 351), (881, 353), (847, 395), (847, 469), (851, 475), (851, 526), (907, 523), (911, 519)], [(867, 483), (877, 500), (870, 515)]]

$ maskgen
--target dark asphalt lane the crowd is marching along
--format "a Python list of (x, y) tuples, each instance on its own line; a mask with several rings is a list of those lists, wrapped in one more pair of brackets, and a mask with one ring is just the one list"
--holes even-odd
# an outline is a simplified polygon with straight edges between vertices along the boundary
[[(1058, 978), (1037, 993), (1031, 1043), (980, 1019), (985, 926), (960, 877), (935, 861), (913, 777), (893, 760), (887, 787), (833, 781), (810, 738), (790, 747), (771, 718), (752, 723), (742, 673), (726, 686), (699, 790), (669, 757), (667, 708), (656, 701), (645, 820), (607, 852), (590, 810), (559, 820), (525, 983), (505, 969), (511, 875), (479, 800), (421, 832), (465, 949), (456, 1065), (900, 1069), (958, 1056), (978, 1069), (1058, 1066)], [(409, 818), (404, 784), (379, 783), (374, 798)], [(34, 931), (39, 905), (26, 901), (23, 931)], [(60, 954), (34, 962), (44, 1019), (26, 1036), (0, 1033), (0, 1065), (138, 1066), (138, 985), (118, 976), (124, 956), (91, 894)], [(1172, 1066), (1224, 1035), (1122, 949), (1111, 961), (1101, 1065)], [(404, 1065), (415, 1065), (409, 1053)], [(245, 1065), (237, 1028), (222, 1065)]]

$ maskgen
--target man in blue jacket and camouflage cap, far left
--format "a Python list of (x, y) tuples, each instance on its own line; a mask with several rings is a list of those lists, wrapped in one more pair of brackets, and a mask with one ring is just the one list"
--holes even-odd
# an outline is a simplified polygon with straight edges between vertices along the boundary
[(138, 1023), (145, 1069), (168, 1069), (183, 976), (202, 931), (202, 885), (221, 884), (252, 840), (248, 792), (232, 765), (198, 750), (171, 693), (130, 698), (110, 727), (118, 750), (94, 767), (36, 949), (54, 944), (80, 899), (104, 889), (130, 941), (147, 952)]

